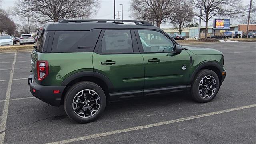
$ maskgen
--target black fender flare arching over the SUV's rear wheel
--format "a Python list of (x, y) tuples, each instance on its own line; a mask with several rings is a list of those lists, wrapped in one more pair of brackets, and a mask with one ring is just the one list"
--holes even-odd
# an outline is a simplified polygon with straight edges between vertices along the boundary
[(81, 77), (96, 77), (99, 78), (100, 80), (102, 80), (103, 82), (105, 82), (105, 84), (108, 86), (108, 88), (110, 90), (113, 89), (113, 84), (110, 82), (110, 80), (108, 79), (108, 77), (106, 77), (105, 75), (99, 73), (99, 72), (93, 72), (93, 71), (83, 71), (83, 72), (77, 72), (75, 74), (72, 74), (71, 76), (69, 76), (68, 78), (66, 78), (62, 83), (61, 86), (66, 86), (68, 85), (68, 83), (70, 83), (72, 80), (75, 80), (76, 78), (81, 78)]

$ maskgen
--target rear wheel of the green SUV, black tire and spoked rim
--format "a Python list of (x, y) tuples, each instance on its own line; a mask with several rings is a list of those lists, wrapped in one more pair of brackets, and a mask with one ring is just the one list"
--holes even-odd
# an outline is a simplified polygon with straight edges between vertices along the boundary
[(78, 123), (93, 122), (104, 112), (105, 106), (102, 88), (88, 81), (74, 84), (64, 98), (66, 114)]

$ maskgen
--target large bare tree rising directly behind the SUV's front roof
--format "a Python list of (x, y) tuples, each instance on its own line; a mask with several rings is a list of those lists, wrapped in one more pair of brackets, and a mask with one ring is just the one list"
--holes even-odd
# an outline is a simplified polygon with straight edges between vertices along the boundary
[(138, 20), (147, 20), (151, 23), (156, 22), (160, 28), (161, 24), (177, 10), (179, 1), (176, 0), (132, 0), (130, 17)]

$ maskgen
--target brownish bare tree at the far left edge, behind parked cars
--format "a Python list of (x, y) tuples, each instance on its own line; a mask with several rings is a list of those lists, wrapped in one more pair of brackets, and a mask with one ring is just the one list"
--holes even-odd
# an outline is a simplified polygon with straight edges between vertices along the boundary
[(16, 30), (15, 23), (8, 17), (8, 14), (0, 9), (0, 33), (1, 36), (5, 31), (7, 34), (12, 35)]

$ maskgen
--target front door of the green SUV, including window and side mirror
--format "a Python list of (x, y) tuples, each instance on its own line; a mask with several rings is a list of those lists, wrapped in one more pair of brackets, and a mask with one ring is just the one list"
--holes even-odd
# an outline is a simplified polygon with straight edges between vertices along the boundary
[(135, 30), (140, 53), (145, 64), (145, 93), (148, 89), (171, 86), (186, 87), (190, 56), (174, 51), (175, 42), (158, 30)]

